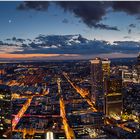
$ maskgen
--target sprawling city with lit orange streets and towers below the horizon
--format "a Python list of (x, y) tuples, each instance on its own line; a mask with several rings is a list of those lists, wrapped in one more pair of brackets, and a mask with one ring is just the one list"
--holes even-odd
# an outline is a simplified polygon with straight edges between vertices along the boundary
[(1, 63), (0, 138), (140, 138), (139, 60)]

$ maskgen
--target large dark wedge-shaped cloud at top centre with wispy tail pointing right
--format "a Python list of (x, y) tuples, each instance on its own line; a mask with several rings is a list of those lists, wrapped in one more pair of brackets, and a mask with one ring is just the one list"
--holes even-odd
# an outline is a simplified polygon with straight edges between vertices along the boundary
[(106, 29), (106, 30), (115, 30), (119, 31), (119, 29), (115, 26), (105, 25), (100, 23), (104, 18), (107, 8), (108, 2), (100, 2), (100, 1), (75, 1), (75, 2), (66, 2), (59, 1), (56, 2), (60, 7), (62, 7), (65, 11), (72, 12), (76, 17), (79, 17), (88, 27)]

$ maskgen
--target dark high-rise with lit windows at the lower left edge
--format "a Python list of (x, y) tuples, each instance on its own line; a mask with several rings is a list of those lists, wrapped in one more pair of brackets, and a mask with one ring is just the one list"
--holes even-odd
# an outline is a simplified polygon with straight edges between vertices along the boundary
[(11, 91), (0, 85), (0, 139), (11, 138)]

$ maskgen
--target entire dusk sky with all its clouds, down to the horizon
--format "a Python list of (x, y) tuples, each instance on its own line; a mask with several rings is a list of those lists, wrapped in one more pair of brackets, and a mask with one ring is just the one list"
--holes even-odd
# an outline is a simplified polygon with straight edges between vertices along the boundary
[(1, 1), (0, 58), (134, 57), (139, 9), (138, 1)]

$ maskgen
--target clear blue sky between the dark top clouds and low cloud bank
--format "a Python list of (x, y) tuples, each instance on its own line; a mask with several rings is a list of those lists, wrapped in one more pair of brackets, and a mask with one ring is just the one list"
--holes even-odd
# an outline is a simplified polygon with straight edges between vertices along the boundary
[[(139, 41), (140, 20), (137, 14), (115, 11), (111, 8), (103, 16), (100, 23), (117, 26), (120, 31), (89, 28), (81, 17), (70, 11), (64, 11), (59, 5), (50, 4), (48, 10), (17, 10), (21, 2), (0, 2), (0, 38), (13, 36), (34, 38), (39, 34), (82, 34), (88, 39), (136, 40)], [(94, 4), (94, 3), (93, 3)], [(96, 14), (96, 13), (93, 13)], [(136, 27), (129, 27), (135, 24)], [(130, 31), (131, 30), (131, 31)]]

